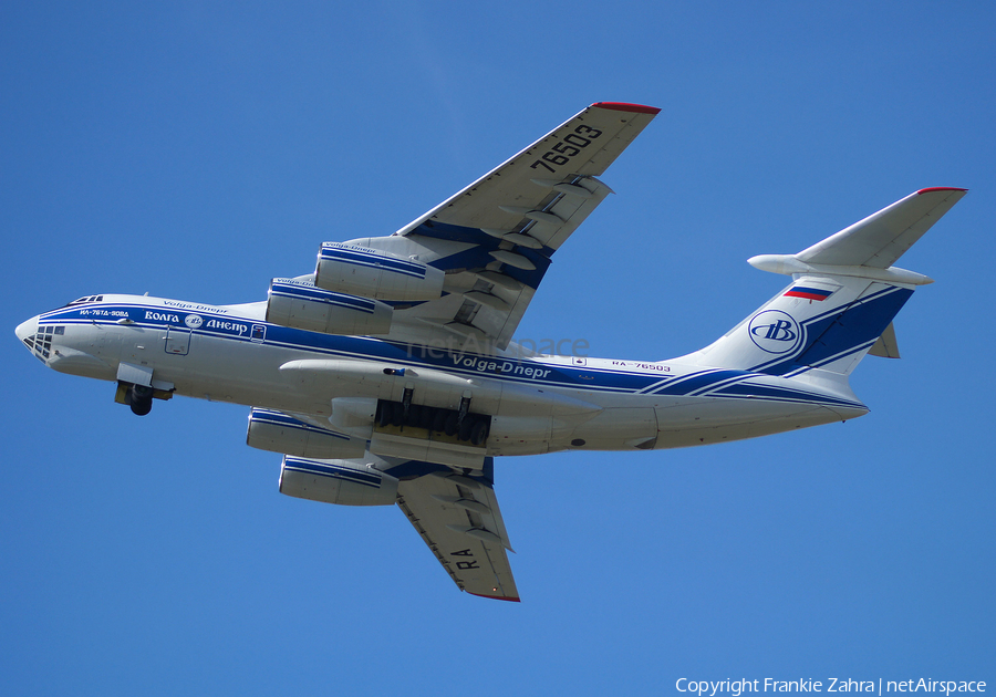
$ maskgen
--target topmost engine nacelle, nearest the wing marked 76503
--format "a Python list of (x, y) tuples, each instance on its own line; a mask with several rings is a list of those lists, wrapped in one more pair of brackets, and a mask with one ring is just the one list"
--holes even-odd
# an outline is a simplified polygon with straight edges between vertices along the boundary
[(377, 300), (423, 301), (443, 295), (444, 275), (435, 267), (387, 252), (325, 242), (319, 252), (314, 284)]

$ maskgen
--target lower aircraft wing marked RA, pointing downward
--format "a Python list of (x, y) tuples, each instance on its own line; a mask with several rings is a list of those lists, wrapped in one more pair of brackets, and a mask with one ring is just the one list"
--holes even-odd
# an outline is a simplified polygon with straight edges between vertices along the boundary
[(489, 478), (449, 471), (403, 479), (398, 508), (461, 591), (519, 602), (506, 553), (511, 545)]

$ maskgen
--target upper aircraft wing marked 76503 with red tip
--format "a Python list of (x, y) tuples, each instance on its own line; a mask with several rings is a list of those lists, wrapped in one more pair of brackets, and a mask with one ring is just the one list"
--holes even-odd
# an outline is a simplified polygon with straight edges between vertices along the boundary
[(443, 298), (395, 309), (415, 327), (397, 337), (505, 348), (553, 253), (611, 193), (595, 177), (660, 111), (592, 104), (398, 230), (405, 256), (446, 277)]

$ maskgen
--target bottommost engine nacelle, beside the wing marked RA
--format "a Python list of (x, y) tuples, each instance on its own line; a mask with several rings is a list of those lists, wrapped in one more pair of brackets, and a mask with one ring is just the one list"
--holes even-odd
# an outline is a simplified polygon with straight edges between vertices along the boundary
[(312, 460), (284, 456), (280, 493), (340, 506), (391, 506), (397, 479), (366, 460)]

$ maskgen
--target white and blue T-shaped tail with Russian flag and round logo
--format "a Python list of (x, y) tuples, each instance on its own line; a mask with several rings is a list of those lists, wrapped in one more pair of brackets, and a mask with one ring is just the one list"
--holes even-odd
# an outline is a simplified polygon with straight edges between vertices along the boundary
[(751, 258), (751, 266), (792, 282), (686, 360), (786, 377), (813, 368), (845, 377), (883, 333), (891, 355), (892, 319), (915, 287), (933, 282), (892, 263), (965, 193), (922, 189), (798, 254)]

